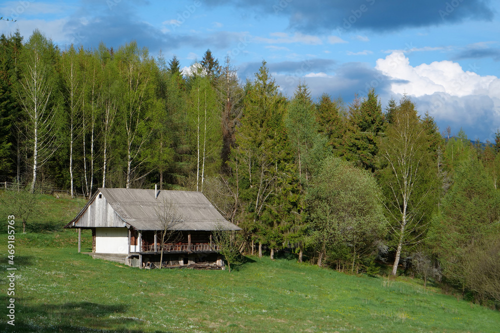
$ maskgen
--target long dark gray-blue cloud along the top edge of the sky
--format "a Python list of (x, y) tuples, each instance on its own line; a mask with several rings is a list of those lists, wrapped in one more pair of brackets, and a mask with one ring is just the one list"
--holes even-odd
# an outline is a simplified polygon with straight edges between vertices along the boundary
[(208, 5), (233, 5), (240, 11), (284, 15), (289, 28), (302, 32), (339, 34), (349, 30), (391, 31), (405, 27), (440, 25), (465, 19), (491, 20), (487, 0), (214, 0)]

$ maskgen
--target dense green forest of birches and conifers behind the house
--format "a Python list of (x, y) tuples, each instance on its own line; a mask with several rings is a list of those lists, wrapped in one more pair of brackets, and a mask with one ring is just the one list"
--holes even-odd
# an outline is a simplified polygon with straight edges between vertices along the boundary
[(241, 252), (354, 273), (410, 265), (500, 300), (500, 133), (486, 145), (441, 134), (409, 97), (382, 107), (373, 88), (346, 105), (299, 81), (288, 98), (265, 61), (244, 82), (209, 50), (190, 68), (135, 42), (61, 50), (37, 30), (2, 35), (2, 180), (87, 198), (201, 191), (242, 228)]

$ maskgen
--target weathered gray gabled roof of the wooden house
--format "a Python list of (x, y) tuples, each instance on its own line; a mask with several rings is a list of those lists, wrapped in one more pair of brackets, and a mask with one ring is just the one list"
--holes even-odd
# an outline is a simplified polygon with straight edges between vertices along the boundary
[[(170, 230), (241, 230), (226, 221), (201, 192), (101, 188), (85, 207), (64, 228), (78, 228), (78, 219), (95, 200), (98, 193), (127, 225), (137, 230), (162, 230), (160, 216), (168, 211), (176, 221)], [(171, 212), (171, 213), (170, 213)], [(74, 223), (74, 226), (73, 226)]]

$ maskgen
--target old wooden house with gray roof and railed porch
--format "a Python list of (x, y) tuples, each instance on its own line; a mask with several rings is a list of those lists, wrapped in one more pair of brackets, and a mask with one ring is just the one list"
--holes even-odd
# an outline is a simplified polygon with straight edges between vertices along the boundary
[(212, 233), (240, 230), (201, 192), (123, 188), (98, 189), (64, 228), (78, 229), (78, 252), (90, 229), (90, 255), (139, 268), (222, 268)]

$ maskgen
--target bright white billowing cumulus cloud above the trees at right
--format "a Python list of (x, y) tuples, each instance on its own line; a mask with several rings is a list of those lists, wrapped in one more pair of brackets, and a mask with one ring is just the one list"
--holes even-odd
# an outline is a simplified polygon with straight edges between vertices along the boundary
[(412, 96), (420, 113), (429, 112), (441, 129), (463, 127), (469, 139), (490, 140), (500, 127), (500, 79), (464, 70), (453, 61), (411, 66), (403, 51), (376, 61), (392, 94)]

